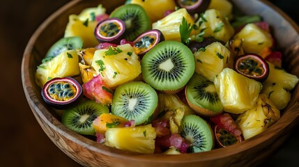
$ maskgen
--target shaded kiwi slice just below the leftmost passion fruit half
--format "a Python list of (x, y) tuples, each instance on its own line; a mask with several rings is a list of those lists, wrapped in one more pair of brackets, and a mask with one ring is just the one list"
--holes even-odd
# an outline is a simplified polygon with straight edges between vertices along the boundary
[(86, 100), (64, 111), (61, 122), (78, 134), (95, 135), (92, 123), (102, 113), (109, 113), (108, 106)]

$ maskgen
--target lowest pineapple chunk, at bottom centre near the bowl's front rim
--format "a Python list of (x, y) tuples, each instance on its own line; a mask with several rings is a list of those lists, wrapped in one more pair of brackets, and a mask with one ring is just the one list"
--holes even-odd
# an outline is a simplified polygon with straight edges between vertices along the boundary
[(156, 133), (151, 125), (109, 128), (105, 136), (105, 145), (112, 148), (143, 154), (153, 154), (155, 150)]

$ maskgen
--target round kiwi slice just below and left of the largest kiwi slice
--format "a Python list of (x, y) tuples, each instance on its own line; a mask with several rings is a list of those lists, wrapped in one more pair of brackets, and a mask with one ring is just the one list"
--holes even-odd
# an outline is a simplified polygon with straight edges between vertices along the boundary
[(158, 95), (144, 82), (130, 82), (118, 86), (112, 100), (112, 113), (141, 125), (151, 120), (158, 106)]

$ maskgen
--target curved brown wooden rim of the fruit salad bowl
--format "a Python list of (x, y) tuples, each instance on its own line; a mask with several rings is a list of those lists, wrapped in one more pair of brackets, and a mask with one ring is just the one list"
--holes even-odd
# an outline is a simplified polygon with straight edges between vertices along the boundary
[[(219, 148), (210, 150), (208, 152), (199, 152), (199, 153), (192, 153), (192, 154), (179, 154), (179, 155), (167, 155), (167, 154), (135, 154), (132, 152), (126, 152), (123, 150), (117, 150), (114, 148), (109, 148), (105, 145), (100, 145), (96, 143), (95, 141), (86, 140), (87, 138), (84, 136), (81, 136), (80, 134), (77, 134), (75, 132), (72, 132), (72, 130), (66, 128), (62, 123), (57, 120), (54, 116), (52, 116), (51, 113), (47, 112), (47, 108), (40, 104), (38, 97), (33, 90), (33, 84), (30, 79), (29, 74), (29, 60), (31, 56), (31, 52), (33, 49), (33, 44), (36, 42), (38, 37), (41, 33), (45, 30), (45, 28), (49, 25), (50, 22), (52, 22), (54, 19), (59, 17), (61, 13), (63, 13), (67, 8), (71, 8), (75, 6), (77, 3), (79, 3), (81, 0), (74, 0), (66, 3), (66, 5), (59, 8), (59, 10), (56, 10), (55, 13), (50, 15), (45, 22), (40, 24), (38, 29), (33, 33), (31, 36), (28, 44), (26, 45), (26, 48), (24, 50), (23, 58), (22, 58), (22, 85), (24, 89), (24, 94), (26, 96), (26, 100), (29, 103), (29, 106), (31, 107), (31, 111), (33, 112), (34, 116), (39, 117), (43, 122), (45, 122), (49, 127), (52, 129), (55, 129), (56, 132), (61, 134), (62, 136), (65, 136), (68, 138), (68, 140), (77, 143), (78, 145), (81, 145), (82, 147), (88, 147), (89, 150), (93, 150), (95, 152), (98, 152), (100, 154), (105, 154), (110, 157), (115, 157), (119, 159), (130, 159), (135, 161), (155, 161), (155, 162), (167, 162), (167, 163), (184, 163), (184, 162), (190, 162), (190, 161), (208, 161), (213, 160), (216, 156), (218, 159), (229, 157), (233, 154), (238, 154), (240, 152), (243, 152), (249, 148), (249, 146), (254, 145), (254, 147), (259, 147), (263, 142), (269, 141), (270, 138), (275, 138), (279, 134), (282, 134), (284, 132), (285, 128), (291, 129), (291, 127), (295, 126), (298, 123), (299, 118), (299, 102), (293, 102), (292, 106), (287, 109), (297, 109), (298, 112), (293, 113), (284, 113), (282, 117), (272, 125), (267, 131), (256, 135), (252, 138), (249, 138), (241, 143), (237, 143), (235, 145), (231, 145), (227, 148)], [(274, 6), (272, 3), (266, 0), (261, 0), (261, 3), (266, 4), (266, 6), (269, 6), (273, 10), (276, 10), (279, 15), (281, 15), (284, 19), (286, 19), (287, 22), (291, 24), (293, 29), (296, 30), (296, 32), (299, 32), (298, 25), (291, 19), (288, 15), (286, 15), (282, 10)], [(286, 119), (286, 115), (291, 115), (291, 118)], [(283, 125), (278, 122), (284, 122)], [(40, 123), (40, 122), (39, 122)], [(276, 133), (271, 133), (276, 132)], [(236, 149), (238, 148), (238, 149)], [(176, 157), (180, 157), (179, 159), (176, 159)], [(200, 158), (199, 158), (200, 157)], [(182, 160), (183, 159), (183, 160)]]

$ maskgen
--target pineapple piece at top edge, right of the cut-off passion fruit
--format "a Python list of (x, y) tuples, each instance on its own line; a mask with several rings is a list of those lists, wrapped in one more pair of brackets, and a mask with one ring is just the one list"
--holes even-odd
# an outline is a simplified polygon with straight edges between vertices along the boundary
[(227, 0), (211, 0), (208, 9), (219, 10), (224, 17), (233, 18), (233, 5)]

